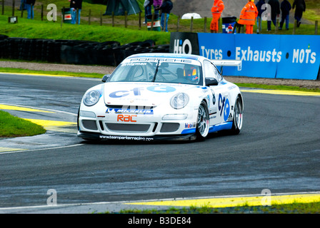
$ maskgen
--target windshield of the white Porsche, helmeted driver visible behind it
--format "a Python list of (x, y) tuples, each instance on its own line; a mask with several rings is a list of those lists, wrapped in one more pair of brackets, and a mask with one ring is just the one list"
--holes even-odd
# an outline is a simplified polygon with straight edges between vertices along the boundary
[(201, 75), (201, 67), (189, 63), (139, 61), (121, 63), (109, 81), (201, 85)]

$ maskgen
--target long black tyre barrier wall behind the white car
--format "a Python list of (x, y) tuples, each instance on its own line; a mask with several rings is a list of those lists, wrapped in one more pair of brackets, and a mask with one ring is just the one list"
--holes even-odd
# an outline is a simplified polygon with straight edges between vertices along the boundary
[(156, 45), (153, 40), (126, 43), (14, 38), (0, 35), (0, 58), (45, 61), (81, 65), (118, 66), (134, 53), (169, 53), (168, 45)]

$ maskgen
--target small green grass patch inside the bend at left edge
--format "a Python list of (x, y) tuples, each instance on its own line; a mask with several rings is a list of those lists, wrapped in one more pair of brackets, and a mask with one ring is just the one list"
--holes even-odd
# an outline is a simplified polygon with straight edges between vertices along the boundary
[(0, 138), (32, 136), (43, 133), (46, 133), (46, 130), (42, 126), (0, 110)]

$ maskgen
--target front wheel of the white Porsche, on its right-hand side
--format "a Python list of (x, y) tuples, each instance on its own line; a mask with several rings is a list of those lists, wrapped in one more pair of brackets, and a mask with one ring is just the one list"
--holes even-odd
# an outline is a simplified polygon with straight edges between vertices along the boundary
[(204, 100), (199, 105), (198, 118), (196, 121), (196, 138), (204, 140), (209, 133), (209, 111)]

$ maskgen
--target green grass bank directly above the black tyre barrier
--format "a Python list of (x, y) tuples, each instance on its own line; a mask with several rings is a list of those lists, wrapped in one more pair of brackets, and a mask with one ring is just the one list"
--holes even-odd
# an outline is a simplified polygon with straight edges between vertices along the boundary
[(49, 38), (55, 40), (118, 41), (121, 45), (149, 39), (154, 40), (157, 45), (170, 43), (170, 33), (95, 24), (62, 25), (51, 21), (24, 18), (19, 19), (17, 24), (9, 24), (8, 16), (3, 15), (0, 15), (0, 34), (9, 37)]

